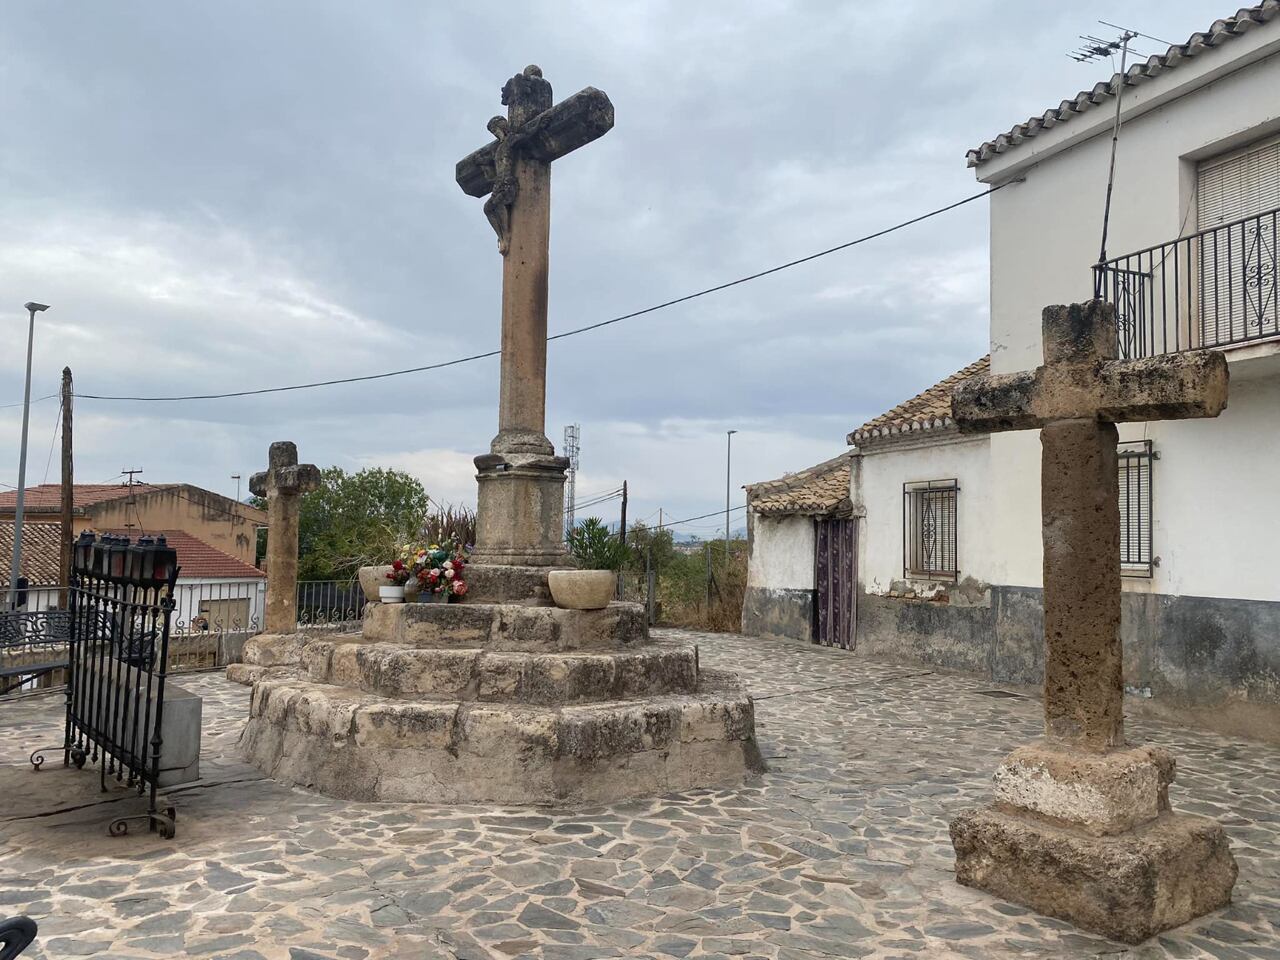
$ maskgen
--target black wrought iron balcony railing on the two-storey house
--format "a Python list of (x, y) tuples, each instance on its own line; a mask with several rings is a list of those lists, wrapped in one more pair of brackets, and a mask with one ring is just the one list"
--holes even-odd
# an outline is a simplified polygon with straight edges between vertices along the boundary
[(1097, 264), (1126, 360), (1280, 337), (1280, 210)]

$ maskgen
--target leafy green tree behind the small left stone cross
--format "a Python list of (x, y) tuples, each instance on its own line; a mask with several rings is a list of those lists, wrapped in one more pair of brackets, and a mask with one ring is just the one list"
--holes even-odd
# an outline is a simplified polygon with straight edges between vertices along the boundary
[[(430, 503), (417, 477), (401, 470), (320, 471), (320, 486), (302, 495), (298, 579), (340, 580), (365, 564), (389, 563), (417, 539)], [(261, 498), (253, 504), (266, 507)]]

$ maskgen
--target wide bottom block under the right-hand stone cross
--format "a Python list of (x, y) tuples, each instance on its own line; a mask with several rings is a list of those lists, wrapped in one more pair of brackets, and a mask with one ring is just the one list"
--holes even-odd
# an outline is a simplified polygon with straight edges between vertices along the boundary
[(1231, 901), (1236, 865), (1213, 820), (1162, 813), (1108, 837), (1030, 815), (970, 810), (951, 822), (956, 879), (1124, 943)]

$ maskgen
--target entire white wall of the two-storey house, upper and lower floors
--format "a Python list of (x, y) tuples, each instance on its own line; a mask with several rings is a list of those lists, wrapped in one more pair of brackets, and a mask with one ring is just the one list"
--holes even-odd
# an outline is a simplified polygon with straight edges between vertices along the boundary
[[(1222, 59), (1206, 55), (1189, 69), (1169, 72), (1169, 83), (1126, 91), (1108, 256), (1196, 232), (1196, 163), (1280, 129), (1280, 29), (1235, 44), (1224, 47)], [(1261, 59), (1240, 65), (1252, 56)], [(1185, 88), (1188, 78), (1198, 82), (1197, 73), (1220, 76), (1175, 99), (1175, 78), (1180, 74), (1176, 83)], [(991, 197), (995, 372), (1041, 362), (1046, 305), (1092, 296), (1111, 114), (1096, 109), (1089, 115), (1084, 124), (1085, 115), (1074, 118), (978, 169), (995, 183), (1025, 177)], [(1052, 152), (1055, 143), (1091, 128), (1092, 138)], [(1120, 426), (1123, 440), (1149, 438), (1161, 454), (1153, 471), (1153, 549), (1161, 566), (1151, 580), (1126, 577), (1126, 590), (1280, 599), (1270, 559), (1280, 539), (1280, 512), (1267, 497), (1280, 475), (1280, 364), (1242, 361), (1260, 349), (1275, 351), (1228, 351), (1231, 396), (1217, 420)], [(991, 458), (998, 465), (991, 484), (995, 549), (982, 564), (993, 582), (1041, 586), (1038, 431), (993, 435)]]

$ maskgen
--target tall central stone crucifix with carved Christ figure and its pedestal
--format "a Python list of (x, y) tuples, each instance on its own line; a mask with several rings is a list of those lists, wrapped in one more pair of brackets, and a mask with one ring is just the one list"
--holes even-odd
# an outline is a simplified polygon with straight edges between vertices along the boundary
[(594, 87), (552, 105), (552, 84), (526, 67), (502, 88), (507, 116), (495, 140), (458, 161), (457, 182), (488, 195), (485, 216), (502, 253), (502, 387), (498, 435), (476, 457), (476, 563), (554, 566), (564, 561), (564, 470), (545, 435), (547, 278), (550, 164), (603, 137), (613, 104)]

